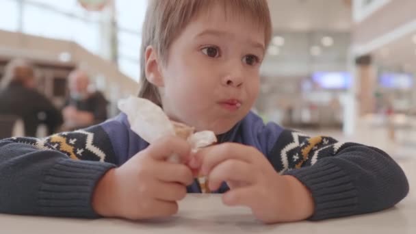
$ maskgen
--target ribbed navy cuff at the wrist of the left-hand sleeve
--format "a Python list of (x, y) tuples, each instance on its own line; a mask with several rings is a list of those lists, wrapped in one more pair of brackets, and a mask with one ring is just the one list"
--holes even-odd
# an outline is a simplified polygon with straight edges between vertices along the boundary
[(96, 183), (113, 164), (63, 159), (46, 172), (38, 192), (41, 215), (79, 218), (99, 217), (92, 209)]

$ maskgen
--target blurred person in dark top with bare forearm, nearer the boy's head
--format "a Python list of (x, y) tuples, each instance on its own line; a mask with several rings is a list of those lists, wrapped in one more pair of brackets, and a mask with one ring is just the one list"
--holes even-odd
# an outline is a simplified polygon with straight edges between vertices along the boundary
[(83, 70), (73, 70), (68, 76), (69, 95), (62, 114), (64, 130), (95, 125), (107, 119), (107, 100), (101, 92), (91, 92), (90, 79)]

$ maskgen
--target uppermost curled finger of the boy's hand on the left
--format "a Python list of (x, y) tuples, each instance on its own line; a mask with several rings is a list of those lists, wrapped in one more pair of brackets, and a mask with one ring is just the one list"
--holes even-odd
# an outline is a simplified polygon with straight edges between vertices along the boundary
[(170, 136), (161, 138), (148, 146), (148, 153), (154, 159), (166, 160), (172, 155), (177, 155), (181, 162), (188, 161), (191, 153), (190, 144), (181, 138)]

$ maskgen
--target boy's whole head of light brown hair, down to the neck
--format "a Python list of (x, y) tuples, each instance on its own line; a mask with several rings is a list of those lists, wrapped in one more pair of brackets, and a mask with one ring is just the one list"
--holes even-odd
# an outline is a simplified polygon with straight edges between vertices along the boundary
[(146, 10), (146, 17), (142, 31), (142, 47), (140, 49), (140, 78), (139, 96), (153, 101), (161, 106), (161, 96), (157, 89), (146, 79), (145, 51), (151, 45), (166, 62), (168, 49), (181, 31), (193, 17), (204, 8), (209, 9), (212, 4), (222, 3), (224, 9), (237, 11), (254, 18), (265, 28), (265, 46), (270, 42), (272, 23), (266, 0), (150, 0)]

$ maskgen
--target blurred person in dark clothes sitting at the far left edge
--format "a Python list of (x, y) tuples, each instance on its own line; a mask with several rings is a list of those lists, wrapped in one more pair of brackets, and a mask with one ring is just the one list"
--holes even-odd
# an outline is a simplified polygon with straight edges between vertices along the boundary
[(49, 134), (62, 124), (60, 111), (36, 90), (34, 66), (26, 60), (12, 60), (0, 81), (0, 115), (18, 116), (25, 135), (36, 136), (39, 125), (47, 125)]

